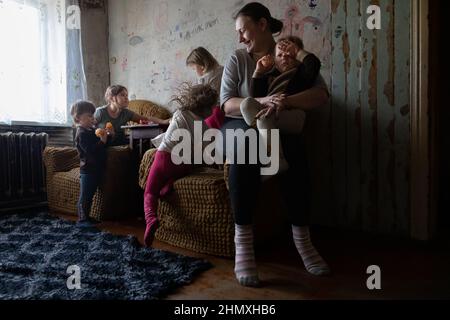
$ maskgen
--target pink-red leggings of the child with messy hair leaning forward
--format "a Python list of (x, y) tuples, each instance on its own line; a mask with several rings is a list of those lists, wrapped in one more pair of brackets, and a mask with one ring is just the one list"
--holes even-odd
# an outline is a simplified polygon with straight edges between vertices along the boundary
[(156, 230), (159, 227), (157, 215), (158, 201), (162, 192), (168, 190), (168, 184), (189, 174), (191, 166), (187, 164), (175, 165), (169, 152), (157, 151), (155, 160), (147, 177), (144, 192), (145, 233), (144, 243), (150, 247)]

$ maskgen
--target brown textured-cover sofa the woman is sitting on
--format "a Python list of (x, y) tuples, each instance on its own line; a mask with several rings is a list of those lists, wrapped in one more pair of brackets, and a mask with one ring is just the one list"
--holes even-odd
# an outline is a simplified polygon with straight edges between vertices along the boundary
[[(156, 149), (148, 150), (139, 167), (139, 185), (145, 189)], [(227, 188), (228, 166), (197, 166), (175, 181), (173, 192), (160, 199), (160, 227), (156, 239), (192, 251), (234, 255), (234, 218)], [(285, 228), (277, 179), (263, 184), (255, 216), (256, 245), (279, 236)], [(271, 202), (262, 199), (273, 199)]]

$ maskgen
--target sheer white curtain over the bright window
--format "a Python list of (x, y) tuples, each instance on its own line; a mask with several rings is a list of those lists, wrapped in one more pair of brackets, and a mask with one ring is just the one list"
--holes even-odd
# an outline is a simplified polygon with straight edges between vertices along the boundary
[(68, 124), (86, 98), (79, 1), (0, 1), (0, 122)]

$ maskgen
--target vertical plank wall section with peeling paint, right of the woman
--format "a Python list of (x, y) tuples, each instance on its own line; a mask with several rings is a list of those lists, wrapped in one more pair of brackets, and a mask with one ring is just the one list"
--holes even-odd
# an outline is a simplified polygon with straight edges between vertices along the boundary
[[(371, 4), (381, 30), (365, 27)], [(332, 98), (306, 128), (313, 220), (408, 236), (410, 3), (332, 0), (331, 12)]]

